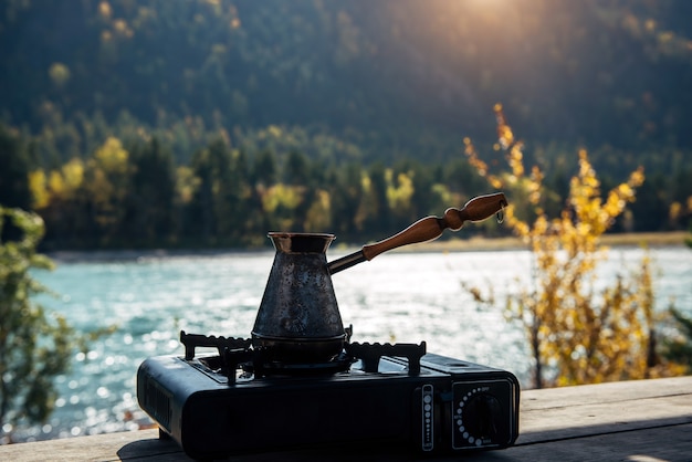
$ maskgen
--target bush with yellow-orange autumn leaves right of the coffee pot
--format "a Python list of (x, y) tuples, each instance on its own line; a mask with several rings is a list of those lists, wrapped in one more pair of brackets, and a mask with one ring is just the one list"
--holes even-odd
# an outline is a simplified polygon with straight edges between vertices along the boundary
[[(506, 313), (521, 323), (533, 355), (534, 385), (566, 386), (639, 379), (668, 374), (656, 351), (651, 263), (618, 274), (609, 286), (597, 281), (597, 265), (608, 258), (601, 235), (635, 200), (644, 181), (642, 169), (604, 197), (587, 153), (579, 151), (578, 172), (559, 216), (544, 204), (551, 192), (538, 167), (525, 169), (523, 144), (515, 139), (502, 106), (495, 106), (497, 148), (508, 171), (491, 175), (473, 144), (465, 155), (489, 183), (510, 198), (507, 225), (532, 252), (532, 280), (506, 301)], [(478, 291), (475, 294), (478, 295)]]

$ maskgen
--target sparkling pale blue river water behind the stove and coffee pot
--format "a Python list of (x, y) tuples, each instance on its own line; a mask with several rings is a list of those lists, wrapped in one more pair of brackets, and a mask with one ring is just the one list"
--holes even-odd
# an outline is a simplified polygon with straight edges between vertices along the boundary
[[(673, 301), (692, 314), (692, 250), (648, 252), (657, 308)], [(643, 253), (611, 249), (599, 266), (600, 281), (636, 270)], [(342, 254), (329, 251), (329, 260)], [(273, 252), (54, 258), (55, 271), (34, 276), (59, 296), (39, 302), (80, 330), (109, 325), (117, 330), (75, 355), (72, 372), (57, 378), (55, 412), (43, 426), (13, 429), (21, 441), (150, 424), (137, 406), (137, 367), (149, 356), (181, 355), (181, 329), (249, 337)], [(527, 387), (524, 333), (504, 318), (502, 301), (520, 284), (531, 284), (531, 265), (527, 251), (392, 252), (335, 274), (333, 282), (344, 324), (353, 325), (353, 342), (426, 340), (430, 353), (510, 370)], [(479, 305), (464, 285), (492, 291), (500, 303)]]

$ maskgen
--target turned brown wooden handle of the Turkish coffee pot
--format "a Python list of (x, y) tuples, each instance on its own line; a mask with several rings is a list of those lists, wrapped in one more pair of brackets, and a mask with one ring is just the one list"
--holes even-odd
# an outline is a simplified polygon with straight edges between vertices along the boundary
[(461, 209), (447, 209), (442, 218), (422, 218), (391, 238), (387, 238), (374, 244), (364, 245), (363, 254), (367, 260), (373, 260), (380, 253), (391, 249), (418, 242), (432, 241), (442, 235), (442, 232), (447, 228), (452, 231), (459, 231), (464, 222), (483, 221), (501, 212), (506, 206), (507, 199), (502, 192), (475, 197)]

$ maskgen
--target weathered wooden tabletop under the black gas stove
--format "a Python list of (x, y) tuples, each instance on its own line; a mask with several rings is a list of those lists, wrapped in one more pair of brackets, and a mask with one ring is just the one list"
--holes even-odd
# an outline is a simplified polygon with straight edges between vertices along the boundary
[[(501, 451), (428, 461), (692, 461), (692, 377), (522, 392), (520, 437)], [(157, 430), (0, 445), (0, 461), (189, 461)], [(411, 454), (301, 450), (231, 461), (400, 461)]]

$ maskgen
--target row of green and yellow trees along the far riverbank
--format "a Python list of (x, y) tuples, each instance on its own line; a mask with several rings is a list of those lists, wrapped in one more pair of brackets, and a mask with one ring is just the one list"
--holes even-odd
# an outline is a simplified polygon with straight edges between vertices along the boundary
[[(332, 232), (339, 242), (365, 243), (493, 192), (461, 153), (444, 164), (327, 164), (297, 150), (245, 151), (219, 136), (181, 165), (156, 137), (108, 137), (88, 156), (45, 167), (34, 147), (0, 127), (0, 203), (41, 214), (45, 250), (248, 248), (268, 245), (269, 231)], [(563, 174), (555, 168), (544, 181), (553, 191), (546, 207), (555, 210), (564, 202)], [(683, 180), (674, 188), (654, 175), (615, 231), (686, 229), (692, 192)], [(506, 232), (489, 220), (463, 237), (481, 230)]]

